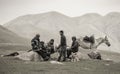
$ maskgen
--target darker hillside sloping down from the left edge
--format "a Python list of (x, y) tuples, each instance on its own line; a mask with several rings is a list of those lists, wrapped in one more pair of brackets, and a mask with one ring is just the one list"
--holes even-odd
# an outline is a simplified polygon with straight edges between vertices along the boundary
[(0, 25), (0, 43), (25, 44), (27, 43), (27, 39), (18, 36)]

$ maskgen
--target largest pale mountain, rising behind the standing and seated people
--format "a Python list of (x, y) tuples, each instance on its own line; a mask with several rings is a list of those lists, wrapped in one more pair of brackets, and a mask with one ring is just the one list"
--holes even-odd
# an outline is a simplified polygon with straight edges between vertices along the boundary
[(64, 30), (68, 37), (74, 35), (74, 29), (76, 29), (74, 25), (76, 24), (76, 21), (72, 20), (72, 18), (53, 11), (20, 16), (4, 26), (29, 39), (39, 33), (42, 40), (48, 41), (51, 38), (58, 40), (60, 30)]

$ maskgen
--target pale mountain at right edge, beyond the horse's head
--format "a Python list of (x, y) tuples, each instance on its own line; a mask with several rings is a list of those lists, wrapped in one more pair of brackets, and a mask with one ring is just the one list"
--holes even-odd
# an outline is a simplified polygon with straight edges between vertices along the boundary
[(120, 49), (120, 13), (111, 12), (104, 16), (105, 19), (105, 33), (112, 39), (112, 43), (115, 47), (114, 50), (119, 51)]

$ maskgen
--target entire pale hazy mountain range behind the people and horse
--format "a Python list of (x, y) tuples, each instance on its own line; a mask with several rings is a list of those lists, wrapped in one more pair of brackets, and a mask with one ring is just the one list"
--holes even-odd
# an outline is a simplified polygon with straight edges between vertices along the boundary
[(7, 29), (16, 34), (31, 39), (36, 33), (41, 35), (41, 40), (49, 41), (54, 38), (59, 42), (59, 30), (64, 30), (71, 43), (71, 37), (94, 34), (96, 38), (108, 36), (111, 47), (102, 44), (99, 49), (120, 52), (120, 13), (111, 12), (105, 16), (89, 13), (79, 17), (69, 17), (58, 12), (30, 14), (20, 16), (4, 24)]

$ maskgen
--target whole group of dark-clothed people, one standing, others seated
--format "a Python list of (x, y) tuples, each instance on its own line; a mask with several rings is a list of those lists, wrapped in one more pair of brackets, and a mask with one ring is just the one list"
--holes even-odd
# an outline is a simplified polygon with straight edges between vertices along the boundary
[[(57, 49), (60, 49), (60, 53), (59, 53), (59, 57), (58, 57), (58, 61), (66, 61), (66, 58), (69, 58), (69, 56), (71, 55), (71, 53), (76, 53), (78, 52), (78, 47), (79, 47), (79, 43), (76, 40), (76, 37), (73, 36), (72, 37), (72, 45), (71, 48), (69, 50), (67, 50), (67, 40), (66, 40), (66, 36), (64, 35), (64, 31), (61, 30), (59, 31), (61, 39), (60, 39), (60, 44), (57, 47)], [(51, 39), (47, 45), (44, 45), (43, 41), (40, 41), (40, 35), (37, 34), (32, 40), (31, 40), (31, 45), (32, 45), (32, 50), (37, 52), (40, 56), (42, 56), (42, 58), (44, 59), (44, 61), (49, 60), (51, 57), (50, 55), (53, 54), (54, 51), (54, 39)], [(63, 60), (61, 60), (61, 57), (63, 56)]]

